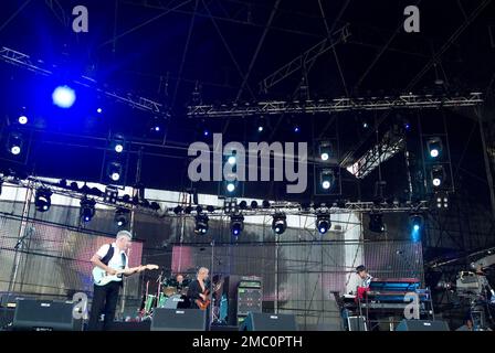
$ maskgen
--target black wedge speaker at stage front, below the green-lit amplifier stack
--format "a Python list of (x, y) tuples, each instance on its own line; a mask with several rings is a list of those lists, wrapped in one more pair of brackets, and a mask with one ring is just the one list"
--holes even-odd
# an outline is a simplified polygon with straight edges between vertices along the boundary
[(297, 331), (295, 315), (250, 312), (241, 331)]

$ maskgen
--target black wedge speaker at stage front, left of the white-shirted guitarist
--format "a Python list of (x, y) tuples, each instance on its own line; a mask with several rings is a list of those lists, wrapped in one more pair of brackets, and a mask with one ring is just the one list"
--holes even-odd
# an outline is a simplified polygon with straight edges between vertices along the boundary
[[(13, 314), (13, 330), (74, 331), (74, 303), (51, 300), (19, 300)], [(81, 324), (81, 322), (80, 322)], [(81, 328), (80, 328), (81, 330)]]

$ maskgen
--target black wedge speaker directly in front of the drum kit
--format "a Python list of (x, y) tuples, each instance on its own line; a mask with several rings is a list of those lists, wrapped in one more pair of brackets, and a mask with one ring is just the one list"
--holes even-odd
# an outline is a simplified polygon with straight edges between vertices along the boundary
[(207, 310), (155, 309), (151, 331), (206, 331)]

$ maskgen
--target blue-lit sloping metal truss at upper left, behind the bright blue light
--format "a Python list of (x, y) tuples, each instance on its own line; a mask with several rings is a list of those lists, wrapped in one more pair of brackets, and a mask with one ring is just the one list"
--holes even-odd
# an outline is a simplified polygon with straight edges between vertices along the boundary
[[(53, 71), (41, 67), (38, 64), (34, 64), (28, 54), (17, 52), (9, 47), (3, 46), (0, 50), (0, 58), (3, 60), (6, 63), (20, 66), (22, 68), (34, 72), (35, 74), (40, 74), (40, 75), (44, 75), (44, 76), (51, 76), (54, 74)], [(81, 76), (77, 79), (73, 79), (73, 83), (76, 85), (80, 85), (80, 86), (84, 86), (89, 89), (94, 89), (98, 94), (103, 94), (107, 97), (110, 97), (110, 98), (117, 100), (117, 101), (125, 103), (133, 108), (137, 108), (137, 109), (144, 110), (144, 111), (149, 111), (155, 115), (165, 116), (167, 114), (164, 106), (155, 100), (151, 100), (151, 99), (148, 99), (145, 97), (135, 96), (129, 93), (126, 95), (122, 95), (115, 90), (103, 89), (97, 86), (97, 83), (95, 79), (89, 78), (87, 76)]]

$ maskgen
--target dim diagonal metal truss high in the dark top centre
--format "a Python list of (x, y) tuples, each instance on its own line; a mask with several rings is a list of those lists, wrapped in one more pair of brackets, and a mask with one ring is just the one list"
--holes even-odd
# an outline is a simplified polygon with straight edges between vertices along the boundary
[(337, 44), (346, 42), (349, 38), (349, 25), (340, 28), (339, 30), (331, 33), (330, 38), (326, 38), (318, 42), (316, 45), (308, 49), (306, 52), (292, 60), (289, 63), (285, 64), (273, 74), (260, 82), (260, 90), (267, 93), (268, 88), (275, 86), (277, 83), (288, 77), (296, 71), (303, 67), (309, 67), (313, 63), (330, 49), (335, 47)]

